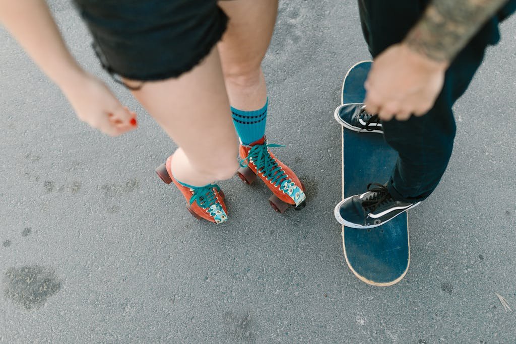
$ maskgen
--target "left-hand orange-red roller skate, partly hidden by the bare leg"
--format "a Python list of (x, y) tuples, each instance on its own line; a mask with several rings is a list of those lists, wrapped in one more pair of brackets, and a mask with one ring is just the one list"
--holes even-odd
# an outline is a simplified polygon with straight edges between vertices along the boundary
[(228, 220), (228, 210), (224, 204), (224, 193), (216, 184), (208, 184), (201, 187), (187, 187), (178, 183), (170, 171), (170, 156), (163, 165), (156, 169), (156, 173), (166, 184), (174, 182), (174, 185), (185, 196), (188, 204), (186, 209), (193, 217), (205, 219), (213, 223), (222, 223)]

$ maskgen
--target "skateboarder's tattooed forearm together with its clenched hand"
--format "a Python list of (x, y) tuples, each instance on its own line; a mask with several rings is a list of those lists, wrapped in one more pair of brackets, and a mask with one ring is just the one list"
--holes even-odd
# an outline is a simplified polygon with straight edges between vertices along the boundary
[(433, 0), (406, 39), (380, 54), (366, 81), (365, 105), (388, 121), (423, 116), (444, 73), (478, 29), (507, 0)]

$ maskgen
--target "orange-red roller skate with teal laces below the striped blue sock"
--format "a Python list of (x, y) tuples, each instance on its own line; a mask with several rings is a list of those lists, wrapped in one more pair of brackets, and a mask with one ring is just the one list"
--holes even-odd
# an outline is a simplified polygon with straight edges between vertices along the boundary
[(282, 147), (279, 144), (267, 144), (265, 136), (250, 145), (240, 144), (241, 168), (237, 174), (245, 183), (251, 184), (256, 175), (272, 191), (269, 203), (276, 211), (283, 213), (289, 205), (300, 210), (306, 205), (304, 186), (299, 178), (286, 167), (269, 147)]

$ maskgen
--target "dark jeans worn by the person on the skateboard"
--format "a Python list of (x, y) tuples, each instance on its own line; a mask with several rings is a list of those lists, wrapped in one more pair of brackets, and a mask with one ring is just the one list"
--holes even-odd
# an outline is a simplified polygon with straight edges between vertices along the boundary
[[(427, 3), (427, 0), (359, 0), (362, 30), (373, 57), (401, 42)], [(398, 152), (388, 183), (394, 199), (423, 201), (436, 189), (453, 149), (456, 126), (451, 107), (469, 86), (486, 47), (498, 42), (498, 23), (514, 9), (516, 0), (511, 0), (459, 53), (446, 72), (436, 103), (425, 116), (382, 123), (385, 140)]]

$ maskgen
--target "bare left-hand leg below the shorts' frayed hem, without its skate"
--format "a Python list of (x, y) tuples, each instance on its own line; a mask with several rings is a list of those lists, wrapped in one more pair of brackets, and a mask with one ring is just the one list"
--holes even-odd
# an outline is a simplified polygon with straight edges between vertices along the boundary
[(148, 82), (132, 93), (179, 145), (171, 166), (176, 179), (204, 186), (235, 174), (238, 139), (216, 47), (179, 78)]

